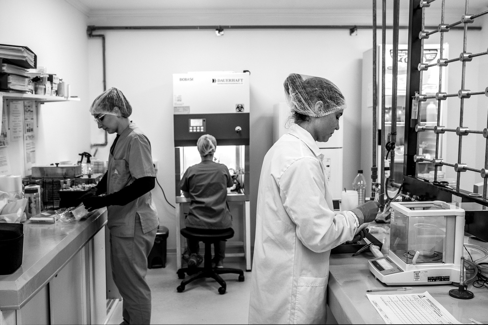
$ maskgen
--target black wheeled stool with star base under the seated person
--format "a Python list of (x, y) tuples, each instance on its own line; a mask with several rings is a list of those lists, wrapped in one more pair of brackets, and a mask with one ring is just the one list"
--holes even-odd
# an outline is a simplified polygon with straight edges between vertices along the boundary
[(201, 278), (213, 278), (215, 279), (221, 287), (219, 288), (219, 293), (224, 294), (227, 288), (227, 284), (224, 279), (220, 277), (219, 274), (224, 273), (235, 273), (239, 274), (239, 281), (244, 281), (244, 271), (238, 268), (212, 268), (212, 244), (222, 240), (232, 238), (234, 236), (234, 230), (232, 228), (222, 229), (222, 231), (212, 230), (212, 233), (195, 232), (187, 228), (181, 229), (181, 234), (185, 238), (194, 239), (201, 241), (205, 244), (205, 255), (203, 257), (203, 268), (180, 268), (178, 273), (178, 278), (184, 279), (185, 273), (189, 275), (188, 278), (184, 279), (176, 290), (178, 292), (183, 292), (184, 287), (196, 279)]

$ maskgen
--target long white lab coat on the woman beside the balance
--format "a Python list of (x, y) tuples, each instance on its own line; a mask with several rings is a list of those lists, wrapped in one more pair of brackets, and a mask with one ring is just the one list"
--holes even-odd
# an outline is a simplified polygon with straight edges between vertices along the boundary
[(322, 158), (298, 125), (264, 157), (249, 324), (325, 324), (330, 249), (352, 240), (358, 223), (333, 211)]

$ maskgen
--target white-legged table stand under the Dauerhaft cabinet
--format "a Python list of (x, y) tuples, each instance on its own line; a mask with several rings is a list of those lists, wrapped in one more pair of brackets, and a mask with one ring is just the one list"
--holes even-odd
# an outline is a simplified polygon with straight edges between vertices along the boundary
[[(182, 267), (181, 256), (182, 256), (182, 245), (184, 244), (184, 238), (180, 235), (180, 229), (184, 226), (184, 213), (188, 211), (188, 206), (190, 203), (190, 199), (184, 196), (177, 196), (176, 197), (176, 269), (180, 269)], [(232, 211), (234, 209), (241, 210), (242, 212), (239, 215), (242, 215), (242, 220), (236, 220), (233, 218), (232, 220), (232, 229), (234, 229), (235, 235), (234, 239), (227, 241), (227, 247), (225, 256), (244, 256), (246, 261), (246, 271), (251, 270), (251, 215), (250, 215), (250, 205), (249, 205), (249, 195), (248, 194), (238, 194), (238, 193), (229, 193), (227, 194), (227, 203), (229, 204), (229, 208)], [(241, 238), (242, 237), (242, 238)], [(236, 241), (237, 238), (237, 241)], [(183, 239), (183, 241), (182, 241)], [(239, 240), (241, 239), (241, 240)], [(229, 247), (231, 246), (240, 246), (244, 248), (243, 253), (232, 253), (228, 252)]]

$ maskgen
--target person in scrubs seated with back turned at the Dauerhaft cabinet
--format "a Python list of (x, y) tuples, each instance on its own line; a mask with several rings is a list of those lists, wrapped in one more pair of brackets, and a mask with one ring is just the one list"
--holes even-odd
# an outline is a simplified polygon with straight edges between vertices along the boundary
[[(227, 188), (233, 185), (229, 170), (224, 164), (213, 161), (217, 141), (210, 134), (202, 135), (197, 141), (202, 162), (188, 167), (180, 181), (184, 197), (190, 198), (186, 217), (186, 228), (195, 232), (211, 233), (212, 230), (232, 227), (232, 217), (227, 207)], [(187, 239), (190, 257), (188, 267), (202, 263), (199, 242)], [(214, 244), (212, 266), (223, 268), (225, 242)]]

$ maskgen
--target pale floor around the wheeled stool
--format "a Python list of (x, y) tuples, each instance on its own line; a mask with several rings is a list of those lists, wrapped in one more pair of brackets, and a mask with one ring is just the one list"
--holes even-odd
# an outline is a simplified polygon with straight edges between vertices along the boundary
[[(152, 293), (151, 324), (247, 324), (251, 272), (244, 271), (244, 282), (238, 282), (237, 274), (223, 274), (227, 283), (223, 295), (213, 279), (196, 280), (179, 293), (176, 287), (181, 280), (176, 274), (176, 255), (168, 255), (167, 259), (165, 268), (147, 272)], [(227, 257), (224, 266), (245, 270), (245, 260)], [(107, 324), (121, 322), (122, 303), (119, 303)]]

